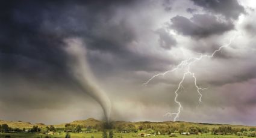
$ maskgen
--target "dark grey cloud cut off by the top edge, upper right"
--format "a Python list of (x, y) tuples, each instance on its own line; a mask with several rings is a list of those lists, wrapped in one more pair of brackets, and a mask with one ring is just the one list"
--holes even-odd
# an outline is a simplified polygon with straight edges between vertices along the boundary
[(240, 14), (245, 13), (245, 8), (236, 0), (192, 0), (196, 5), (204, 8), (205, 11), (222, 14), (227, 19), (237, 19)]

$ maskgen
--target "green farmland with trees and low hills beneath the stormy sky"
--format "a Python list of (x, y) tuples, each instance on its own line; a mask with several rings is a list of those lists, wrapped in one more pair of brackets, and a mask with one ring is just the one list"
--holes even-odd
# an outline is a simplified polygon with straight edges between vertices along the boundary
[[(256, 127), (229, 124), (208, 124), (181, 121), (127, 122), (113, 121), (106, 124), (93, 118), (57, 125), (31, 124), (22, 121), (0, 121), (0, 137), (181, 137), (228, 138), (255, 137)], [(105, 133), (104, 133), (105, 132)], [(111, 134), (110, 134), (111, 133)], [(105, 134), (105, 135), (104, 135)], [(111, 138), (110, 137), (110, 138)]]

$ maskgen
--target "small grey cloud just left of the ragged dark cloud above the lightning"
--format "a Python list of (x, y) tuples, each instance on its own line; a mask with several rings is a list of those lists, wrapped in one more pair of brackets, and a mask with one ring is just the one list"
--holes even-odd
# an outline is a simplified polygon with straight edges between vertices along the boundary
[(171, 47), (176, 46), (177, 42), (171, 34), (169, 34), (165, 29), (161, 28), (155, 31), (159, 35), (159, 43), (163, 49), (171, 49)]

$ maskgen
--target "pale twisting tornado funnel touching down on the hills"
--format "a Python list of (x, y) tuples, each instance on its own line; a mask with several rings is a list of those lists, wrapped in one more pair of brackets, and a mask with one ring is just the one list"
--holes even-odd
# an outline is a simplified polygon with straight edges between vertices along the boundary
[(86, 59), (86, 48), (79, 38), (65, 39), (64, 47), (69, 55), (68, 66), (78, 86), (94, 98), (102, 107), (107, 122), (110, 121), (111, 104), (107, 94), (97, 85)]

